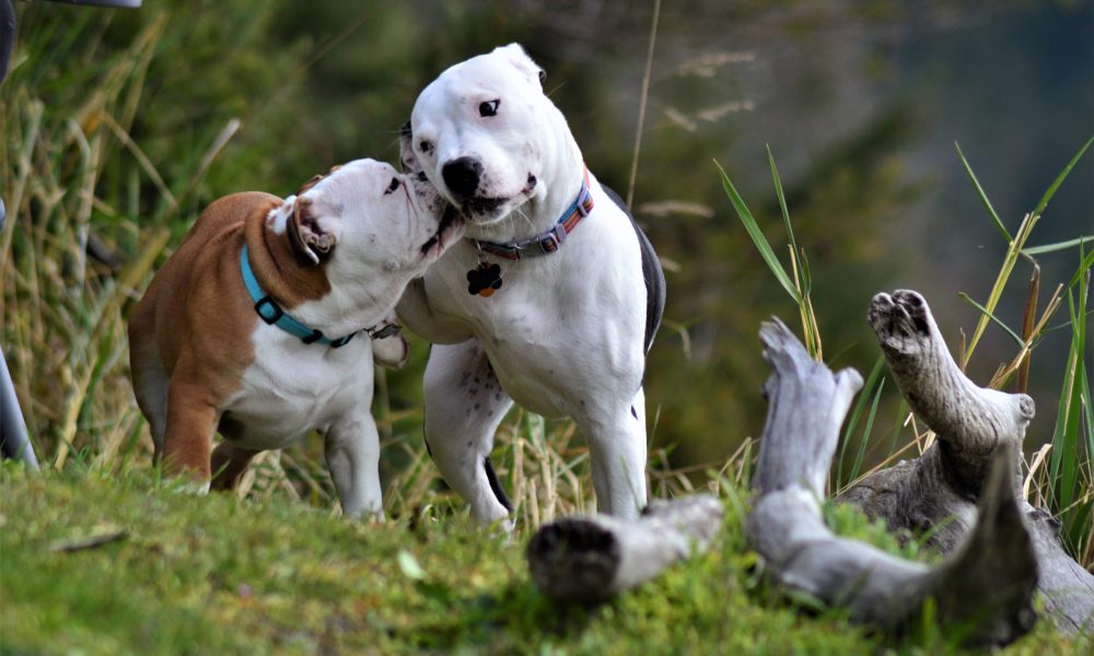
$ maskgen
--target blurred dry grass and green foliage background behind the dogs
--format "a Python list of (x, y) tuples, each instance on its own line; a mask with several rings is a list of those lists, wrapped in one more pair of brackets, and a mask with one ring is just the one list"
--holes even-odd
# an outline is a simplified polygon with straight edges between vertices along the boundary
[[(522, 43), (590, 168), (628, 189), (652, 0), (15, 7), (19, 40), (0, 87), (11, 214), (0, 343), (46, 461), (147, 456), (123, 317), (209, 201), (245, 189), (284, 196), (362, 156), (396, 161), (416, 95), (452, 63)], [(768, 373), (758, 323), (796, 325), (714, 161), (785, 261), (770, 147), (810, 258), (825, 360), (865, 374), (878, 356), (865, 324), (874, 293), (923, 293), (956, 349), (979, 318), (958, 293), (984, 303), (996, 279), (1006, 244), (954, 142), (1013, 233), (1092, 133), (1090, 1), (665, 2), (633, 191), (668, 282), (647, 375), (661, 465), (717, 469), (758, 435)], [(1094, 233), (1092, 183), (1087, 155), (1031, 245)], [(1079, 251), (1038, 262), (1051, 289)], [(1021, 324), (1031, 271), (1020, 261), (1003, 296), (997, 314), (1009, 325)], [(1050, 331), (1034, 352), (1031, 449), (1050, 437), (1069, 339)], [(427, 349), (415, 341), (408, 367), (382, 379), (388, 442), (420, 447)], [(989, 327), (973, 378), (987, 382), (1015, 352)], [(886, 425), (899, 421), (891, 396)], [(891, 452), (881, 442), (868, 460)], [(404, 452), (391, 453), (385, 471), (405, 467)]]

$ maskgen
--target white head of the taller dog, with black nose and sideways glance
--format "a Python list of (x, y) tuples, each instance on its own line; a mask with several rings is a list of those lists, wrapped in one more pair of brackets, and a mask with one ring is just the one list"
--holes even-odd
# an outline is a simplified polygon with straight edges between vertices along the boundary
[(447, 69), (418, 96), (403, 130), (405, 169), (424, 175), (469, 221), (493, 223), (544, 195), (545, 145), (565, 120), (544, 71), (517, 44)]

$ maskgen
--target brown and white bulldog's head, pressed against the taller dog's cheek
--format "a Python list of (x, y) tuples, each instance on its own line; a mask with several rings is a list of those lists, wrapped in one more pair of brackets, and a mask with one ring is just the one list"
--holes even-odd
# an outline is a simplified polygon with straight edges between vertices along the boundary
[(417, 276), (463, 235), (463, 219), (431, 185), (375, 160), (315, 176), (284, 206), (284, 230), (304, 266), (351, 277)]

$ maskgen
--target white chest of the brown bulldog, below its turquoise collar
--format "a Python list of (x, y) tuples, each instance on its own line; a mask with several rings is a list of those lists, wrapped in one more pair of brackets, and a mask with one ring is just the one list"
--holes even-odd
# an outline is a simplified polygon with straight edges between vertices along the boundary
[[(274, 332), (278, 331), (278, 332)], [(313, 430), (325, 431), (372, 401), (372, 350), (366, 336), (340, 349), (304, 344), (260, 325), (252, 336), (255, 361), (224, 410), (247, 448), (283, 448)]]

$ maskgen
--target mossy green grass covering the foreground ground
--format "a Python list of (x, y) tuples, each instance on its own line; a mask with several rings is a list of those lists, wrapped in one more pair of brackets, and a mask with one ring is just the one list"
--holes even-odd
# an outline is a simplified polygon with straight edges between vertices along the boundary
[[(196, 497), (150, 475), (12, 467), (0, 473), (0, 499), (2, 653), (952, 649), (929, 624), (893, 642), (789, 606), (756, 574), (733, 511), (711, 552), (614, 602), (559, 607), (528, 578), (525, 536), (509, 542), (458, 514), (354, 524), (284, 501)], [(1041, 625), (1008, 652), (1083, 646)]]

